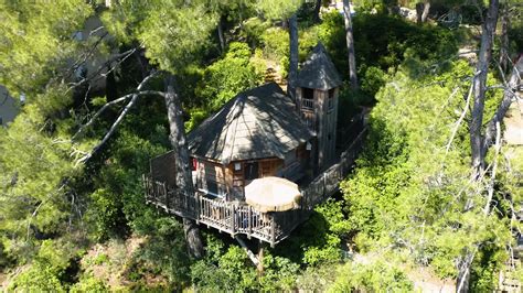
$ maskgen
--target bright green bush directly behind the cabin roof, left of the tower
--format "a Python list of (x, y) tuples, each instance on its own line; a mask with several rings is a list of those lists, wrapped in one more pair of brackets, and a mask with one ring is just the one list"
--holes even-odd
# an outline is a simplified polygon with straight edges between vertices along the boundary
[[(216, 111), (238, 93), (262, 84), (265, 68), (256, 67), (250, 55), (247, 44), (233, 42), (222, 59), (205, 68), (196, 94), (206, 101), (210, 111)], [(190, 127), (194, 127), (203, 115), (194, 113), (196, 120), (191, 120)]]

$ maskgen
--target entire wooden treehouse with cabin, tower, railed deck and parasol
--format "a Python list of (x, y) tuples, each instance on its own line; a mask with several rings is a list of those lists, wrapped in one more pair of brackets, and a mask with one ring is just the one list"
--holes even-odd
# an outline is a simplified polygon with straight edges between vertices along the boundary
[(195, 193), (175, 186), (174, 154), (151, 160), (146, 200), (166, 211), (271, 246), (338, 191), (365, 130), (337, 148), (342, 84), (317, 45), (298, 73), (296, 100), (274, 83), (244, 93), (188, 134)]

